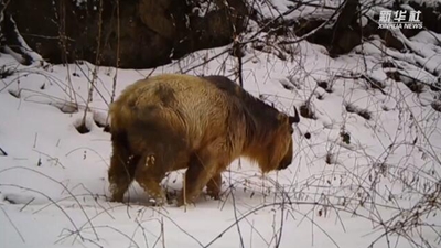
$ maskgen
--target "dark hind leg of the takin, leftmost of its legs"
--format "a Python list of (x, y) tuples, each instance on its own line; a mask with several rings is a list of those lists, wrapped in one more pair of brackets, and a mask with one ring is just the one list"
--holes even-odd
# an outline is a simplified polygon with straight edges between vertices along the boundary
[(139, 159), (139, 155), (130, 155), (128, 158), (121, 158), (118, 153), (111, 155), (108, 180), (112, 202), (122, 202), (126, 191), (133, 181)]

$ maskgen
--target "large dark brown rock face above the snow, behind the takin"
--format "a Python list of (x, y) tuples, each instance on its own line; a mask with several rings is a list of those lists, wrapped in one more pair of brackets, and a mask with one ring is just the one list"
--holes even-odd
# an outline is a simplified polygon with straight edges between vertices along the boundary
[[(211, 11), (201, 11), (208, 2)], [(148, 68), (232, 42), (244, 30), (247, 8), (243, 1), (227, 2), (14, 0), (6, 14), (49, 62), (86, 60), (116, 66), (119, 57), (119, 67)]]

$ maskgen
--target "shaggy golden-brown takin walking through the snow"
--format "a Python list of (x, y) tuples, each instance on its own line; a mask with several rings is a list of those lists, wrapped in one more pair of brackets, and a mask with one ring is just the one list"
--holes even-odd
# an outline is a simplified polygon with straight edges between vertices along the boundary
[(166, 172), (187, 169), (179, 205), (203, 187), (218, 198), (220, 173), (237, 158), (261, 171), (292, 161), (295, 117), (279, 112), (223, 76), (165, 74), (128, 86), (110, 106), (112, 155), (108, 172), (112, 200), (122, 202), (136, 180), (155, 204)]

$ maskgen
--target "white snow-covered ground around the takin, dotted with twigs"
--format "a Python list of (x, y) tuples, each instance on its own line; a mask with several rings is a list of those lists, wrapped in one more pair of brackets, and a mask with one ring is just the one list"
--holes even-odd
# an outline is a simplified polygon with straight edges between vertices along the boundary
[[(308, 103), (314, 118), (294, 128), (287, 170), (262, 176), (236, 161), (224, 173), (222, 201), (201, 196), (180, 208), (146, 206), (136, 183), (128, 205), (108, 202), (110, 136), (100, 125), (114, 82), (118, 96), (150, 74), (234, 78), (236, 58), (219, 55), (225, 47), (143, 71), (21, 66), (1, 54), (0, 247), (439, 247), (440, 91), (413, 83), (415, 93), (408, 77), (386, 76), (439, 80), (418, 67), (440, 72), (437, 39), (424, 31), (408, 40), (419, 54), (374, 40), (337, 58), (308, 42), (288, 61), (248, 47), (244, 87), (288, 114)], [(84, 115), (90, 131), (82, 134)], [(181, 179), (171, 173), (164, 187), (180, 190)]]

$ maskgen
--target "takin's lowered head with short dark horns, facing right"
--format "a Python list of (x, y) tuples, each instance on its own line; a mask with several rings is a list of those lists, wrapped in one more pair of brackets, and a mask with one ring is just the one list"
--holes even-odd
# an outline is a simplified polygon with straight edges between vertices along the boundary
[(259, 149), (261, 153), (257, 154), (257, 160), (263, 173), (287, 169), (292, 163), (292, 125), (300, 121), (299, 114), (295, 108), (294, 110), (295, 116), (278, 114), (277, 128), (267, 137), (268, 142), (263, 145), (263, 150)]

